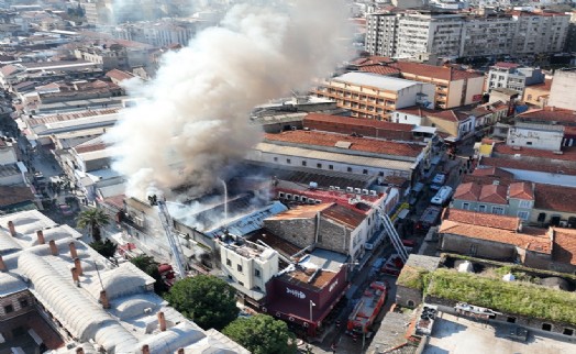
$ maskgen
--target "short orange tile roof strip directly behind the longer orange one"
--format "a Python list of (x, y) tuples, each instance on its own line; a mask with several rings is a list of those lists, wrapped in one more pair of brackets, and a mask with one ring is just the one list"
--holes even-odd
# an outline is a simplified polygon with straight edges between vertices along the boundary
[(446, 208), (442, 217), (443, 220), (457, 221), (470, 225), (487, 226), (509, 231), (517, 231), (522, 224), (520, 218), (516, 217), (496, 215), (453, 208)]

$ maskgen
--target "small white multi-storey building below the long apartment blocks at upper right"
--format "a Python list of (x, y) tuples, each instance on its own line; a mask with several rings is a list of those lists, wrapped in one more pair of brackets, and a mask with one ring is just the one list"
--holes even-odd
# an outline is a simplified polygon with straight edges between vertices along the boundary
[(523, 93), (527, 86), (542, 84), (545, 75), (540, 68), (520, 67), (513, 63), (496, 63), (488, 71), (486, 87), (507, 88)]

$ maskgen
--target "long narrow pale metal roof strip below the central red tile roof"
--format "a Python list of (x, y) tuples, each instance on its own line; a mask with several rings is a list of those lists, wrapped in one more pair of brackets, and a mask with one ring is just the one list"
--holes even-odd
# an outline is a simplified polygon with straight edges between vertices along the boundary
[(268, 143), (259, 143), (254, 150), (269, 154), (278, 154), (286, 156), (297, 156), (303, 158), (322, 159), (325, 162), (336, 162), (342, 164), (348, 164), (354, 166), (365, 166), (384, 169), (397, 169), (397, 170), (411, 170), (413, 163), (394, 161), (386, 158), (374, 158), (357, 155), (345, 155), (337, 153), (321, 152), (310, 148), (301, 148), (293, 146), (279, 146)]

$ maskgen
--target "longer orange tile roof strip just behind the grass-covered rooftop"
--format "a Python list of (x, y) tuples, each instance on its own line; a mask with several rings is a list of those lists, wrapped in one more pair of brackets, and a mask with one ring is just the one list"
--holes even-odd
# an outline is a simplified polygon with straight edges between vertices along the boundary
[[(552, 241), (545, 229), (523, 228), (522, 232), (489, 226), (474, 225), (451, 220), (442, 221), (440, 233), (455, 234), (463, 237), (498, 242), (514, 245), (524, 250), (551, 254)], [(446, 237), (446, 235), (444, 235)]]

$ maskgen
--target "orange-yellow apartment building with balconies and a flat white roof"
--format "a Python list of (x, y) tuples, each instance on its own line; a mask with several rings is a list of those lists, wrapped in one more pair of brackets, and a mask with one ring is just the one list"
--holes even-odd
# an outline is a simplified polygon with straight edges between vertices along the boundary
[(352, 117), (387, 120), (396, 109), (431, 104), (434, 86), (372, 73), (347, 73), (326, 79), (314, 93), (336, 101)]

